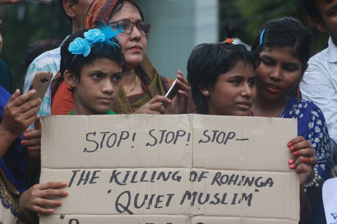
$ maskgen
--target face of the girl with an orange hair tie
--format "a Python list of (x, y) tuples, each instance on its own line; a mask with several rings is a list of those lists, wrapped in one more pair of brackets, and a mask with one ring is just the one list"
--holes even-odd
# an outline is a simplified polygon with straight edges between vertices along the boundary
[(208, 92), (209, 115), (247, 116), (256, 96), (254, 66), (238, 62)]

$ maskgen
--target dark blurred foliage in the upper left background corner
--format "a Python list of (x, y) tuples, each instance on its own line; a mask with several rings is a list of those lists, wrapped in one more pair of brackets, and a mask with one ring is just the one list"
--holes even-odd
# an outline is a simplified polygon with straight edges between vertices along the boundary
[(3, 47), (0, 58), (8, 65), (14, 89), (23, 89), (26, 70), (22, 60), (29, 44), (41, 39), (63, 40), (71, 34), (71, 25), (57, 0), (50, 4), (23, 1), (2, 9)]

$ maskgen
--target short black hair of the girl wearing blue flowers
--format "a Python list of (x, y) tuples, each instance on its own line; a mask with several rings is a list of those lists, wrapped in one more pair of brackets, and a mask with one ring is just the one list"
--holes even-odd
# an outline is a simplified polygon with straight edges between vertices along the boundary
[[(88, 56), (83, 56), (83, 54), (72, 54), (69, 50), (69, 44), (76, 38), (84, 38), (84, 33), (90, 29), (80, 30), (70, 35), (63, 44), (61, 45), (61, 62), (60, 62), (60, 73), (63, 77), (66, 70), (70, 71), (80, 82), (81, 68), (84, 65), (93, 63), (95, 59), (99, 58), (108, 58), (113, 61), (116, 61), (122, 67), (122, 73), (124, 74), (125, 70), (125, 57), (122, 52), (121, 44), (118, 41), (118, 38), (113, 38), (113, 41), (118, 45), (114, 47), (107, 43), (98, 44), (92, 46)], [(75, 56), (76, 55), (76, 56)], [(73, 89), (71, 89), (73, 92)]]

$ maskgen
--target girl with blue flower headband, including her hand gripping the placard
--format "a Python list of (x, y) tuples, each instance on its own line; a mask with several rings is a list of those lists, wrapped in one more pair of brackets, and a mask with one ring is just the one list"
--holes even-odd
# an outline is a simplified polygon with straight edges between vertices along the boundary
[[(62, 44), (60, 71), (74, 93), (75, 102), (69, 115), (115, 114), (109, 108), (118, 95), (125, 68), (125, 58), (116, 39), (119, 32), (110, 27), (81, 30)], [(66, 191), (58, 189), (66, 186), (66, 182), (50, 182), (36, 184), (24, 192), (20, 207), (27, 220), (38, 223), (36, 212), (53, 213), (53, 208), (41, 205), (60, 206), (62, 202), (43, 197), (67, 196)]]

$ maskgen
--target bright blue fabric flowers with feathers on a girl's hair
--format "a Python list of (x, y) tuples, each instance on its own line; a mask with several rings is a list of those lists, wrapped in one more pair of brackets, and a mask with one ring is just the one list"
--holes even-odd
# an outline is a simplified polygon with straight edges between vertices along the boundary
[[(83, 54), (84, 57), (90, 54), (91, 47), (101, 45), (106, 43), (112, 46), (115, 50), (116, 47), (120, 47), (118, 44), (115, 43), (113, 40), (119, 33), (122, 32), (120, 27), (110, 27), (104, 23), (99, 25), (100, 29), (90, 29), (84, 33), (84, 38), (78, 37), (74, 39), (68, 47), (68, 50), (72, 54)], [(75, 55), (75, 56), (76, 56)]]

